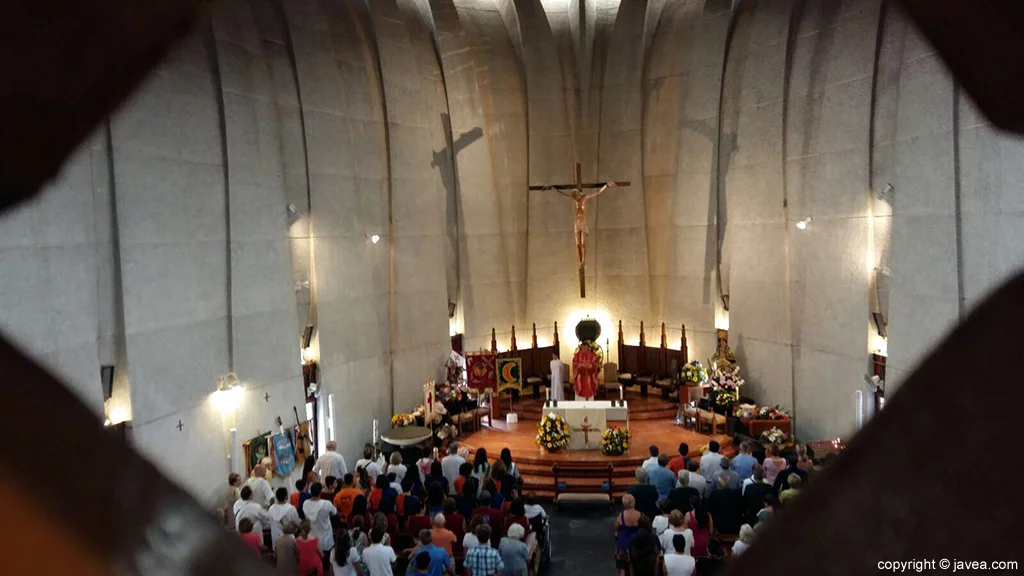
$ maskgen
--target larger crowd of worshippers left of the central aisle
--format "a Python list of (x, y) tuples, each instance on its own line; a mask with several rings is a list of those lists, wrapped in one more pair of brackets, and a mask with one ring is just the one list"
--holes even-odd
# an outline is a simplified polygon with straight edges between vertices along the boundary
[(452, 443), (411, 466), (371, 445), (349, 472), (334, 442), (295, 489), (271, 489), (264, 465), (228, 477), (217, 508), (254, 553), (294, 576), (527, 576), (536, 574), (546, 512), (508, 449), (472, 458)]

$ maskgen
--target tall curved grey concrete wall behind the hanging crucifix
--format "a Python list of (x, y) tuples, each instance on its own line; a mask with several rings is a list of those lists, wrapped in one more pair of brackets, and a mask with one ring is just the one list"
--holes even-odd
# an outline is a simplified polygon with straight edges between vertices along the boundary
[[(575, 161), (633, 182), (590, 204), (585, 300), (569, 201), (525, 190)], [(701, 361), (728, 323), (750, 396), (846, 436), (870, 351), (896, 389), (1019, 270), (1022, 181), (1021, 140), (878, 0), (232, 0), (4, 215), (0, 317), (201, 495), (217, 377), (247, 384), (243, 439), (289, 421), (307, 323), (350, 458), (450, 327), (557, 321), (568, 353), (585, 314), (612, 346), (685, 324)]]

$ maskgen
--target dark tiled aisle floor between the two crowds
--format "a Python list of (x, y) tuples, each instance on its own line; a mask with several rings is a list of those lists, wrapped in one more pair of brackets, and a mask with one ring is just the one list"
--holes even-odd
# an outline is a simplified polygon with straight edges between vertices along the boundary
[(569, 507), (550, 517), (551, 563), (548, 576), (605, 576), (615, 573), (615, 512), (606, 507)]

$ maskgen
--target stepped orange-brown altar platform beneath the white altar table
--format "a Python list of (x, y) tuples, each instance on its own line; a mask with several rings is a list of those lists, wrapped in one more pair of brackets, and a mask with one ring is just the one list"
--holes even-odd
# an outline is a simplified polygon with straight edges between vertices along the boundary
[[(632, 418), (632, 407), (630, 413)], [(471, 454), (477, 448), (486, 449), (490, 458), (498, 457), (503, 448), (510, 449), (512, 460), (523, 477), (523, 492), (535, 492), (542, 500), (551, 500), (554, 496), (555, 478), (552, 469), (554, 464), (562, 466), (573, 463), (611, 464), (612, 492), (616, 498), (621, 498), (626, 489), (635, 482), (634, 472), (649, 457), (647, 448), (652, 444), (663, 452), (675, 456), (679, 444), (685, 442), (690, 447), (690, 457), (695, 458), (699, 457), (701, 446), (716, 440), (722, 446), (724, 455), (732, 456), (736, 453), (731, 437), (701, 435), (691, 428), (684, 428), (675, 423), (675, 414), (673, 409), (672, 418), (632, 420), (630, 431), (633, 434), (633, 439), (629, 451), (622, 456), (605, 456), (600, 450), (562, 449), (549, 453), (537, 445), (537, 422), (530, 420), (513, 424), (496, 421), (494, 426), (484, 426), (479, 431), (460, 437), (459, 442), (468, 448)], [(519, 417), (522, 418), (521, 412)], [(601, 477), (607, 477), (606, 471), (597, 471), (601, 467), (603, 466), (595, 469), (593, 478), (564, 479), (563, 482), (572, 487), (592, 486), (595, 492), (601, 492), (603, 482)]]

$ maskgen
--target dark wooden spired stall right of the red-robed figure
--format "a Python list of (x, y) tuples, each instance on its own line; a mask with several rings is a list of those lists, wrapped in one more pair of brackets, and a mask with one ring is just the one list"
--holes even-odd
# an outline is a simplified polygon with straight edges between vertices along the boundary
[[(675, 361), (675, 365), (673, 365)], [(686, 325), (682, 325), (679, 349), (670, 348), (662, 323), (662, 342), (658, 346), (647, 345), (643, 322), (640, 322), (640, 343), (627, 344), (623, 335), (623, 321), (618, 321), (618, 381), (630, 386), (638, 384), (640, 394), (647, 396), (647, 386), (662, 390), (668, 398), (675, 382), (677, 370), (689, 362), (686, 352)]]

